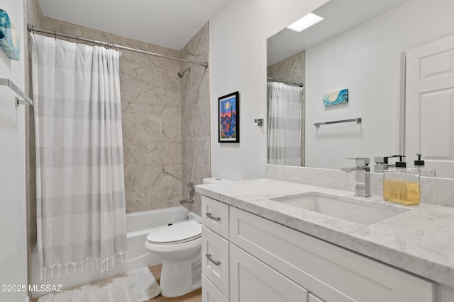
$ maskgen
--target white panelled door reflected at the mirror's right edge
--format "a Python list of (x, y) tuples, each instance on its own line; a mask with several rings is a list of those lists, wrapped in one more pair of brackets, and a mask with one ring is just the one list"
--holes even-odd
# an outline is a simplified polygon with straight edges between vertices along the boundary
[(406, 161), (454, 178), (454, 35), (406, 52)]

